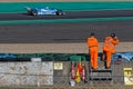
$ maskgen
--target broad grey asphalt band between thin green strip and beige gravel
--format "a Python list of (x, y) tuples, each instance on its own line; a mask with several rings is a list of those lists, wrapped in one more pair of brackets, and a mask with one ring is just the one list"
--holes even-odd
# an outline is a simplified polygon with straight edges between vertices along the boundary
[(95, 32), (99, 41), (115, 32), (121, 42), (132, 42), (133, 21), (0, 26), (0, 43), (85, 42), (90, 32)]

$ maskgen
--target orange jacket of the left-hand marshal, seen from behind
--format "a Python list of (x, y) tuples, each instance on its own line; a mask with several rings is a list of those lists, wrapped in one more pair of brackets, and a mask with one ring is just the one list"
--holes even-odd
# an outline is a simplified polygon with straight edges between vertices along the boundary
[(95, 37), (88, 38), (88, 46), (90, 50), (96, 49), (98, 50), (98, 39)]

